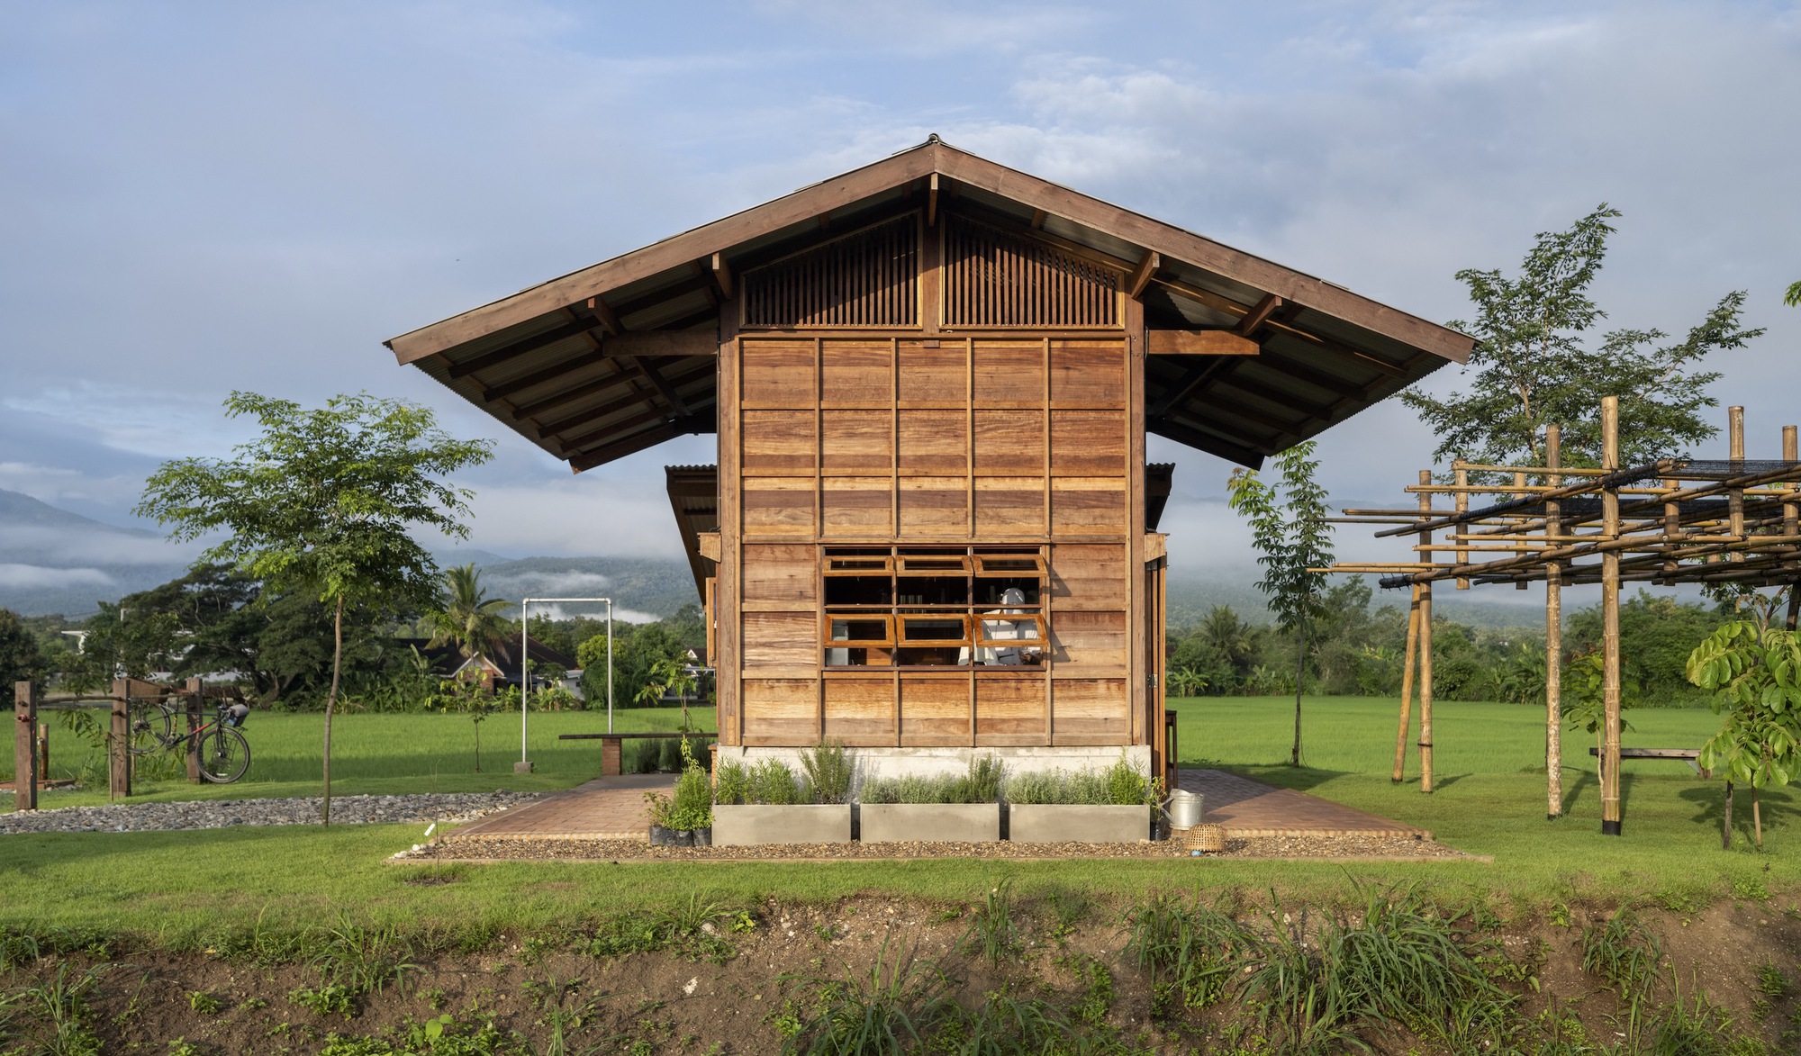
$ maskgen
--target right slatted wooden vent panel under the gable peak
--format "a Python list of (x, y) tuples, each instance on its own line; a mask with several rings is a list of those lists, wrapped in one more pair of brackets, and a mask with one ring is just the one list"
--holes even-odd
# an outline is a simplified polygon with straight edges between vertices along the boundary
[(946, 326), (1118, 326), (1118, 272), (962, 216), (944, 229)]

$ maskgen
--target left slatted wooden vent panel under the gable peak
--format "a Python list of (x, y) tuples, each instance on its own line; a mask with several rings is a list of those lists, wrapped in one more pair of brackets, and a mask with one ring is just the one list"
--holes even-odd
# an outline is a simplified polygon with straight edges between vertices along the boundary
[(919, 326), (919, 216), (744, 272), (746, 326)]

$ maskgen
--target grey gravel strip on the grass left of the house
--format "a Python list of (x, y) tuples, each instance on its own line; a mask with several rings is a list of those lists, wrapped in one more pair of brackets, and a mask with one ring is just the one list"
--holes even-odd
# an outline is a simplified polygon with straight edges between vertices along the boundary
[[(461, 824), (537, 798), (538, 793), (510, 791), (331, 797), (331, 822), (346, 825)], [(171, 833), (178, 829), (232, 829), (238, 825), (317, 825), (321, 804), (319, 797), (301, 797), (13, 811), (0, 815), (0, 836), (18, 833)]]

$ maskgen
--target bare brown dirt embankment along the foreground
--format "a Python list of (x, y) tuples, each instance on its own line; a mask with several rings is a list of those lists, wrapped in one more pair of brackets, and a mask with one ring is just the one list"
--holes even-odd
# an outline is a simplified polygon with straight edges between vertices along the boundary
[[(1796, 1052), (1801, 910), (1779, 905), (1788, 899), (1643, 906), (1637, 930), (1615, 930), (1610, 968), (1590, 970), (1585, 948), (1594, 955), (1610, 908), (1558, 906), (1513, 921), (1477, 910), (1457, 917), (1455, 933), (1488, 979), (1513, 995), (1497, 1029), (1524, 1051), (1534, 1051), (1531, 1040), (1570, 1034), (1592, 1045), (1648, 1045), (1648, 1031), (1680, 993), (1707, 1033)], [(195, 953), (103, 948), (95, 937), (77, 937), (54, 953), (58, 935), (16, 932), (4, 948), (13, 968), (0, 975), (11, 1002), (0, 1006), (0, 1052), (16, 1045), (34, 1052), (56, 1031), (85, 1031), (90, 1049), (43, 1051), (751, 1054), (780, 1052), (787, 1036), (827, 1029), (818, 1016), (834, 1007), (859, 1015), (890, 1007), (928, 1034), (967, 1036), (985, 1022), (973, 1011), (1003, 998), (1041, 1002), (1032, 1007), (1057, 1031), (1082, 1034), (1100, 1052), (1270, 1051), (1281, 1029), (1261, 1022), (1237, 989), (1255, 955), (1223, 973), (1223, 997), (1208, 1000), (1199, 986), (1192, 1004), (1201, 1007), (1183, 1007), (1180, 993), (1158, 986), (1169, 971), (1156, 977), (1135, 962), (1129, 910), (1075, 894), (1014, 897), (1005, 914), (884, 897), (686, 906), (569, 933), (465, 935), (463, 950), (452, 941), (317, 932), (238, 935)], [(1263, 935), (1302, 921), (1299, 908), (1270, 914), (1241, 903), (1235, 910)], [(1309, 910), (1308, 919), (1313, 930), (1302, 950), (1318, 957), (1318, 924), (1336, 919), (1356, 928), (1362, 914)], [(1634, 971), (1634, 948), (1655, 953), (1641, 957), (1650, 968), (1637, 1016), (1619, 979)], [(1378, 1052), (1448, 1051), (1430, 1024), (1353, 1018), (1338, 1029)], [(1012, 1031), (1019, 1045), (1028, 1034)]]

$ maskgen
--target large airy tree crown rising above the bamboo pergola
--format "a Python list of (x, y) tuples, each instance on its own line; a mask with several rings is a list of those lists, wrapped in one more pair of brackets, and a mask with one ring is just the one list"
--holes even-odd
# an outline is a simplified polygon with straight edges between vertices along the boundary
[(1466, 391), (1432, 396), (1401, 393), (1439, 436), (1434, 458), (1486, 465), (1543, 465), (1547, 423), (1563, 427), (1565, 465), (1599, 465), (1601, 396), (1619, 396), (1619, 447), (1625, 465), (1679, 454), (1718, 432), (1700, 411), (1716, 400), (1707, 386), (1720, 375), (1698, 369), (1707, 353), (1742, 348), (1763, 330), (1743, 330), (1743, 290), (1731, 292), (1688, 332), (1670, 341), (1662, 330), (1588, 333), (1606, 314), (1588, 297), (1601, 270), (1608, 220), (1601, 204), (1569, 231), (1540, 232), (1516, 278), (1464, 269), (1475, 319), (1452, 326), (1477, 339)]

